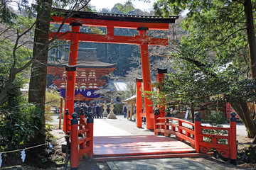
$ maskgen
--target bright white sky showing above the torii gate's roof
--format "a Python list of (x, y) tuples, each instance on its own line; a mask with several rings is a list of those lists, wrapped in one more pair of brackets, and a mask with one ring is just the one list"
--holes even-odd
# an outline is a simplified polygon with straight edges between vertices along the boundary
[[(126, 0), (91, 0), (90, 4), (92, 6), (96, 6), (97, 11), (101, 8), (109, 8), (111, 9), (114, 4), (121, 3), (124, 4)], [(133, 0), (132, 4), (134, 4), (135, 8), (139, 8), (142, 11), (148, 11), (150, 8), (153, 9), (153, 4), (157, 0), (150, 0), (150, 3), (145, 3), (144, 1)]]

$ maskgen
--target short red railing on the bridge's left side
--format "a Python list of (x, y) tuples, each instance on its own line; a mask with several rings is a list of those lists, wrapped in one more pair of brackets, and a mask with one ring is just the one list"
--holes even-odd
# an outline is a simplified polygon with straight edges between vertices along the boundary
[(90, 158), (93, 156), (92, 113), (87, 114), (87, 120), (85, 115), (80, 115), (78, 118), (77, 113), (71, 115), (72, 119), (68, 118), (68, 111), (65, 115), (67, 116), (66, 133), (70, 132), (70, 168), (77, 169), (83, 156)]

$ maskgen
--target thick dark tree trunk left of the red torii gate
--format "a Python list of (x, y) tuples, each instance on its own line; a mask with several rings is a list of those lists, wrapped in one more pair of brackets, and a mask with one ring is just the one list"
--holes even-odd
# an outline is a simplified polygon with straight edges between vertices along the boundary
[(38, 0), (37, 23), (34, 35), (33, 56), (39, 57), (33, 62), (29, 82), (28, 101), (36, 104), (42, 110), (41, 127), (36, 133), (35, 142), (44, 143), (46, 140), (44, 109), (46, 103), (46, 79), (48, 61), (48, 40), (50, 28), (51, 0)]

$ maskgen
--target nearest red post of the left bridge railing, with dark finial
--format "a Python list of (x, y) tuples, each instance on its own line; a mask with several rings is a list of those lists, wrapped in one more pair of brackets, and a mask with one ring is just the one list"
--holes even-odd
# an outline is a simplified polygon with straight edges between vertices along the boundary
[(70, 132), (70, 169), (78, 169), (79, 157), (78, 157), (78, 114), (73, 113), (71, 120), (71, 132)]

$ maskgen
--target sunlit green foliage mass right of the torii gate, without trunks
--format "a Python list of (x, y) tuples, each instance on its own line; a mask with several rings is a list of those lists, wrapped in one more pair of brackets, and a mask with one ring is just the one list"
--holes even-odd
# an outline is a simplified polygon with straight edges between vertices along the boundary
[[(254, 101), (255, 86), (250, 79), (243, 6), (235, 1), (160, 0), (156, 13), (180, 14), (188, 9), (182, 23), (184, 36), (171, 52), (176, 72), (167, 74), (162, 91), (166, 100), (179, 99), (183, 105), (201, 106), (230, 101)], [(219, 96), (210, 100), (210, 96)]]

